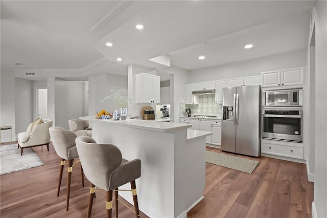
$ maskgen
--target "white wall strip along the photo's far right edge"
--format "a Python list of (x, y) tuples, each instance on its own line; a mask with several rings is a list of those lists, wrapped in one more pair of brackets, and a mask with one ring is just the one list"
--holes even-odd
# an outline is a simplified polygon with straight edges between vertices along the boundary
[(316, 133), (314, 205), (317, 217), (327, 217), (327, 2), (313, 9), (316, 24)]

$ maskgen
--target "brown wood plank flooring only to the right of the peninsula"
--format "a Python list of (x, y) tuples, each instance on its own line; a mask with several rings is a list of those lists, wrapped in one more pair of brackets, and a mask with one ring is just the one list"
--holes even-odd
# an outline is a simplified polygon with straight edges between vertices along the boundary
[(252, 174), (206, 163), (204, 199), (188, 217), (312, 217), (314, 184), (305, 164), (206, 149), (260, 163)]

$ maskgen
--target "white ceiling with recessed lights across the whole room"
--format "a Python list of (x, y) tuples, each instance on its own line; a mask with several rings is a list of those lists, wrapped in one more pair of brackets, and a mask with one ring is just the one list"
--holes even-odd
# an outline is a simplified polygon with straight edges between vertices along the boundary
[[(112, 13), (122, 3), (128, 6)], [(1, 66), (15, 71), (52, 69), (51, 73), (74, 69), (76, 77), (84, 78), (87, 72), (127, 75), (130, 63), (164, 69), (148, 60), (160, 55), (169, 55), (174, 66), (194, 70), (300, 50), (308, 43), (308, 9), (314, 5), (315, 1), (1, 1)], [(112, 18), (91, 34), (90, 28), (108, 14)], [(144, 29), (135, 29), (136, 24)], [(111, 48), (105, 46), (108, 41)], [(253, 48), (245, 50), (247, 43)], [(206, 58), (199, 60), (199, 55)], [(105, 68), (98, 70), (103, 58)], [(14, 66), (15, 62), (23, 65)]]

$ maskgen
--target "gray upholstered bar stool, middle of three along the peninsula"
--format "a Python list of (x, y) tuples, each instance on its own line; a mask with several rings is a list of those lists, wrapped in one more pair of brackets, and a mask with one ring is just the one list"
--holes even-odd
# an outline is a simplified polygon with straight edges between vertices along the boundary
[[(72, 171), (73, 166), (79, 161), (74, 163), (74, 159), (78, 158), (78, 153), (75, 145), (75, 139), (78, 136), (87, 136), (87, 132), (79, 131), (78, 135), (75, 134), (71, 130), (64, 129), (59, 126), (54, 126), (49, 128), (51, 141), (53, 146), (57, 152), (57, 155), (61, 158), (60, 162), (60, 172), (59, 172), (59, 180), (58, 180), (58, 189), (57, 189), (57, 197), (60, 192), (60, 185), (62, 179), (63, 166), (65, 164), (65, 160), (68, 160), (68, 168), (67, 168), (67, 199), (66, 199), (66, 210), (68, 210), (69, 206), (69, 194), (71, 191), (71, 179), (72, 179)], [(83, 176), (83, 168), (81, 166), (81, 175), (82, 175), (82, 186), (84, 187), (84, 176)]]

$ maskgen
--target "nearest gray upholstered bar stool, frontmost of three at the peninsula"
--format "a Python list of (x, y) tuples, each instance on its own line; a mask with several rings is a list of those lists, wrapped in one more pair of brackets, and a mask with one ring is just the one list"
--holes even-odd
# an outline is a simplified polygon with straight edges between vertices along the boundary
[[(118, 217), (118, 187), (126, 183), (131, 184), (134, 201), (134, 213), (139, 217), (135, 180), (141, 177), (141, 160), (127, 161), (122, 158), (122, 153), (113, 144), (97, 144), (94, 139), (87, 136), (76, 138), (76, 147), (84, 169), (85, 177), (90, 181), (90, 198), (87, 217), (91, 216), (95, 191), (106, 190), (106, 215), (111, 217), (112, 191), (115, 193), (115, 211)], [(125, 205), (126, 206), (126, 205)], [(130, 208), (131, 209), (131, 208)]]

